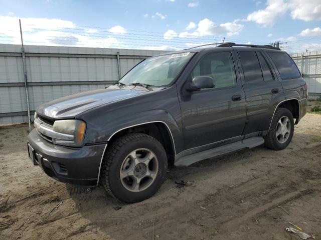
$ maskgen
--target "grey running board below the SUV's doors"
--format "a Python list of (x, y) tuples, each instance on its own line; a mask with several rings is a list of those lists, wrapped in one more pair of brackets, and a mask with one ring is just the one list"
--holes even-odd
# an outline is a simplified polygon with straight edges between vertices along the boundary
[(263, 143), (264, 143), (264, 138), (262, 136), (253, 136), (253, 137), (232, 142), (223, 146), (218, 146), (205, 151), (182, 156), (177, 161), (175, 161), (174, 164), (176, 166), (188, 166), (197, 161), (221, 156), (221, 155), (224, 155), (233, 151), (238, 151), (244, 148), (253, 148)]

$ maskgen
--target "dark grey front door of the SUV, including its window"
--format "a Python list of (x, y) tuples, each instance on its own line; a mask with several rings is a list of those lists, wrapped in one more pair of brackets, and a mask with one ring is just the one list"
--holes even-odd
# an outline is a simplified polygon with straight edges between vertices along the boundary
[(234, 62), (233, 52), (215, 51), (205, 54), (193, 68), (188, 82), (196, 76), (211, 76), (215, 86), (180, 96), (184, 151), (197, 152), (241, 138), (246, 103)]

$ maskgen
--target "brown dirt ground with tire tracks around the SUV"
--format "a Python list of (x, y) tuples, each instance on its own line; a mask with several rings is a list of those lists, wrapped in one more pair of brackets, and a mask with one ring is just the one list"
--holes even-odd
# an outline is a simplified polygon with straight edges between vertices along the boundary
[(0, 129), (0, 239), (299, 239), (288, 221), (321, 238), (321, 114), (306, 114), (284, 150), (170, 169), (135, 204), (47, 176), (27, 157), (26, 129)]

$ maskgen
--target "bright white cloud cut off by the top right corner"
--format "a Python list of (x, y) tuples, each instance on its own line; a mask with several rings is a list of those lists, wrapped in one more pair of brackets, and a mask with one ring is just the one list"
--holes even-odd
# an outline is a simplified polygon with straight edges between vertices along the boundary
[(272, 26), (276, 19), (290, 11), (293, 19), (321, 20), (320, 0), (267, 0), (266, 7), (248, 14), (245, 20)]

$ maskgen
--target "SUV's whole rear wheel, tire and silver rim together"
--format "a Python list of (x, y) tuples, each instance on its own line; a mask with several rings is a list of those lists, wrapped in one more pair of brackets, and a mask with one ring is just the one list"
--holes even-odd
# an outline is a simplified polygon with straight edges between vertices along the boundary
[(294, 131), (293, 115), (287, 108), (276, 109), (265, 145), (274, 150), (282, 150), (290, 143)]

